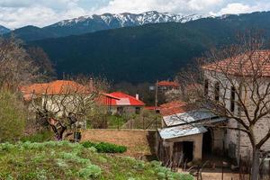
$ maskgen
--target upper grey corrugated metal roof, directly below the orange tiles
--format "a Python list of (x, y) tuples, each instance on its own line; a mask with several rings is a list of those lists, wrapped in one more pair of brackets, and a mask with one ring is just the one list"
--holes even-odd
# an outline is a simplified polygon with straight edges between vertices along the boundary
[(209, 120), (217, 117), (216, 114), (203, 110), (193, 110), (183, 113), (175, 113), (173, 115), (164, 116), (163, 120), (166, 126), (183, 125), (186, 123), (193, 123), (196, 121)]

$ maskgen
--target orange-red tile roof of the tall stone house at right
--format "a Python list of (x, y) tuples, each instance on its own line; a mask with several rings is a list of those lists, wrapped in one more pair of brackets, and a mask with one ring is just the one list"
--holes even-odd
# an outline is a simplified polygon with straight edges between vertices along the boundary
[(226, 58), (202, 66), (202, 68), (234, 76), (253, 76), (258, 73), (261, 76), (270, 76), (270, 50), (247, 52), (235, 58)]

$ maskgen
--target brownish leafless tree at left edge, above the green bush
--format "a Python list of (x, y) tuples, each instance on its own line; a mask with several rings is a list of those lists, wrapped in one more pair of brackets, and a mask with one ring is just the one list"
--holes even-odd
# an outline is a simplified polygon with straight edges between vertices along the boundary
[(0, 39), (0, 87), (16, 91), (39, 76), (20, 40)]

